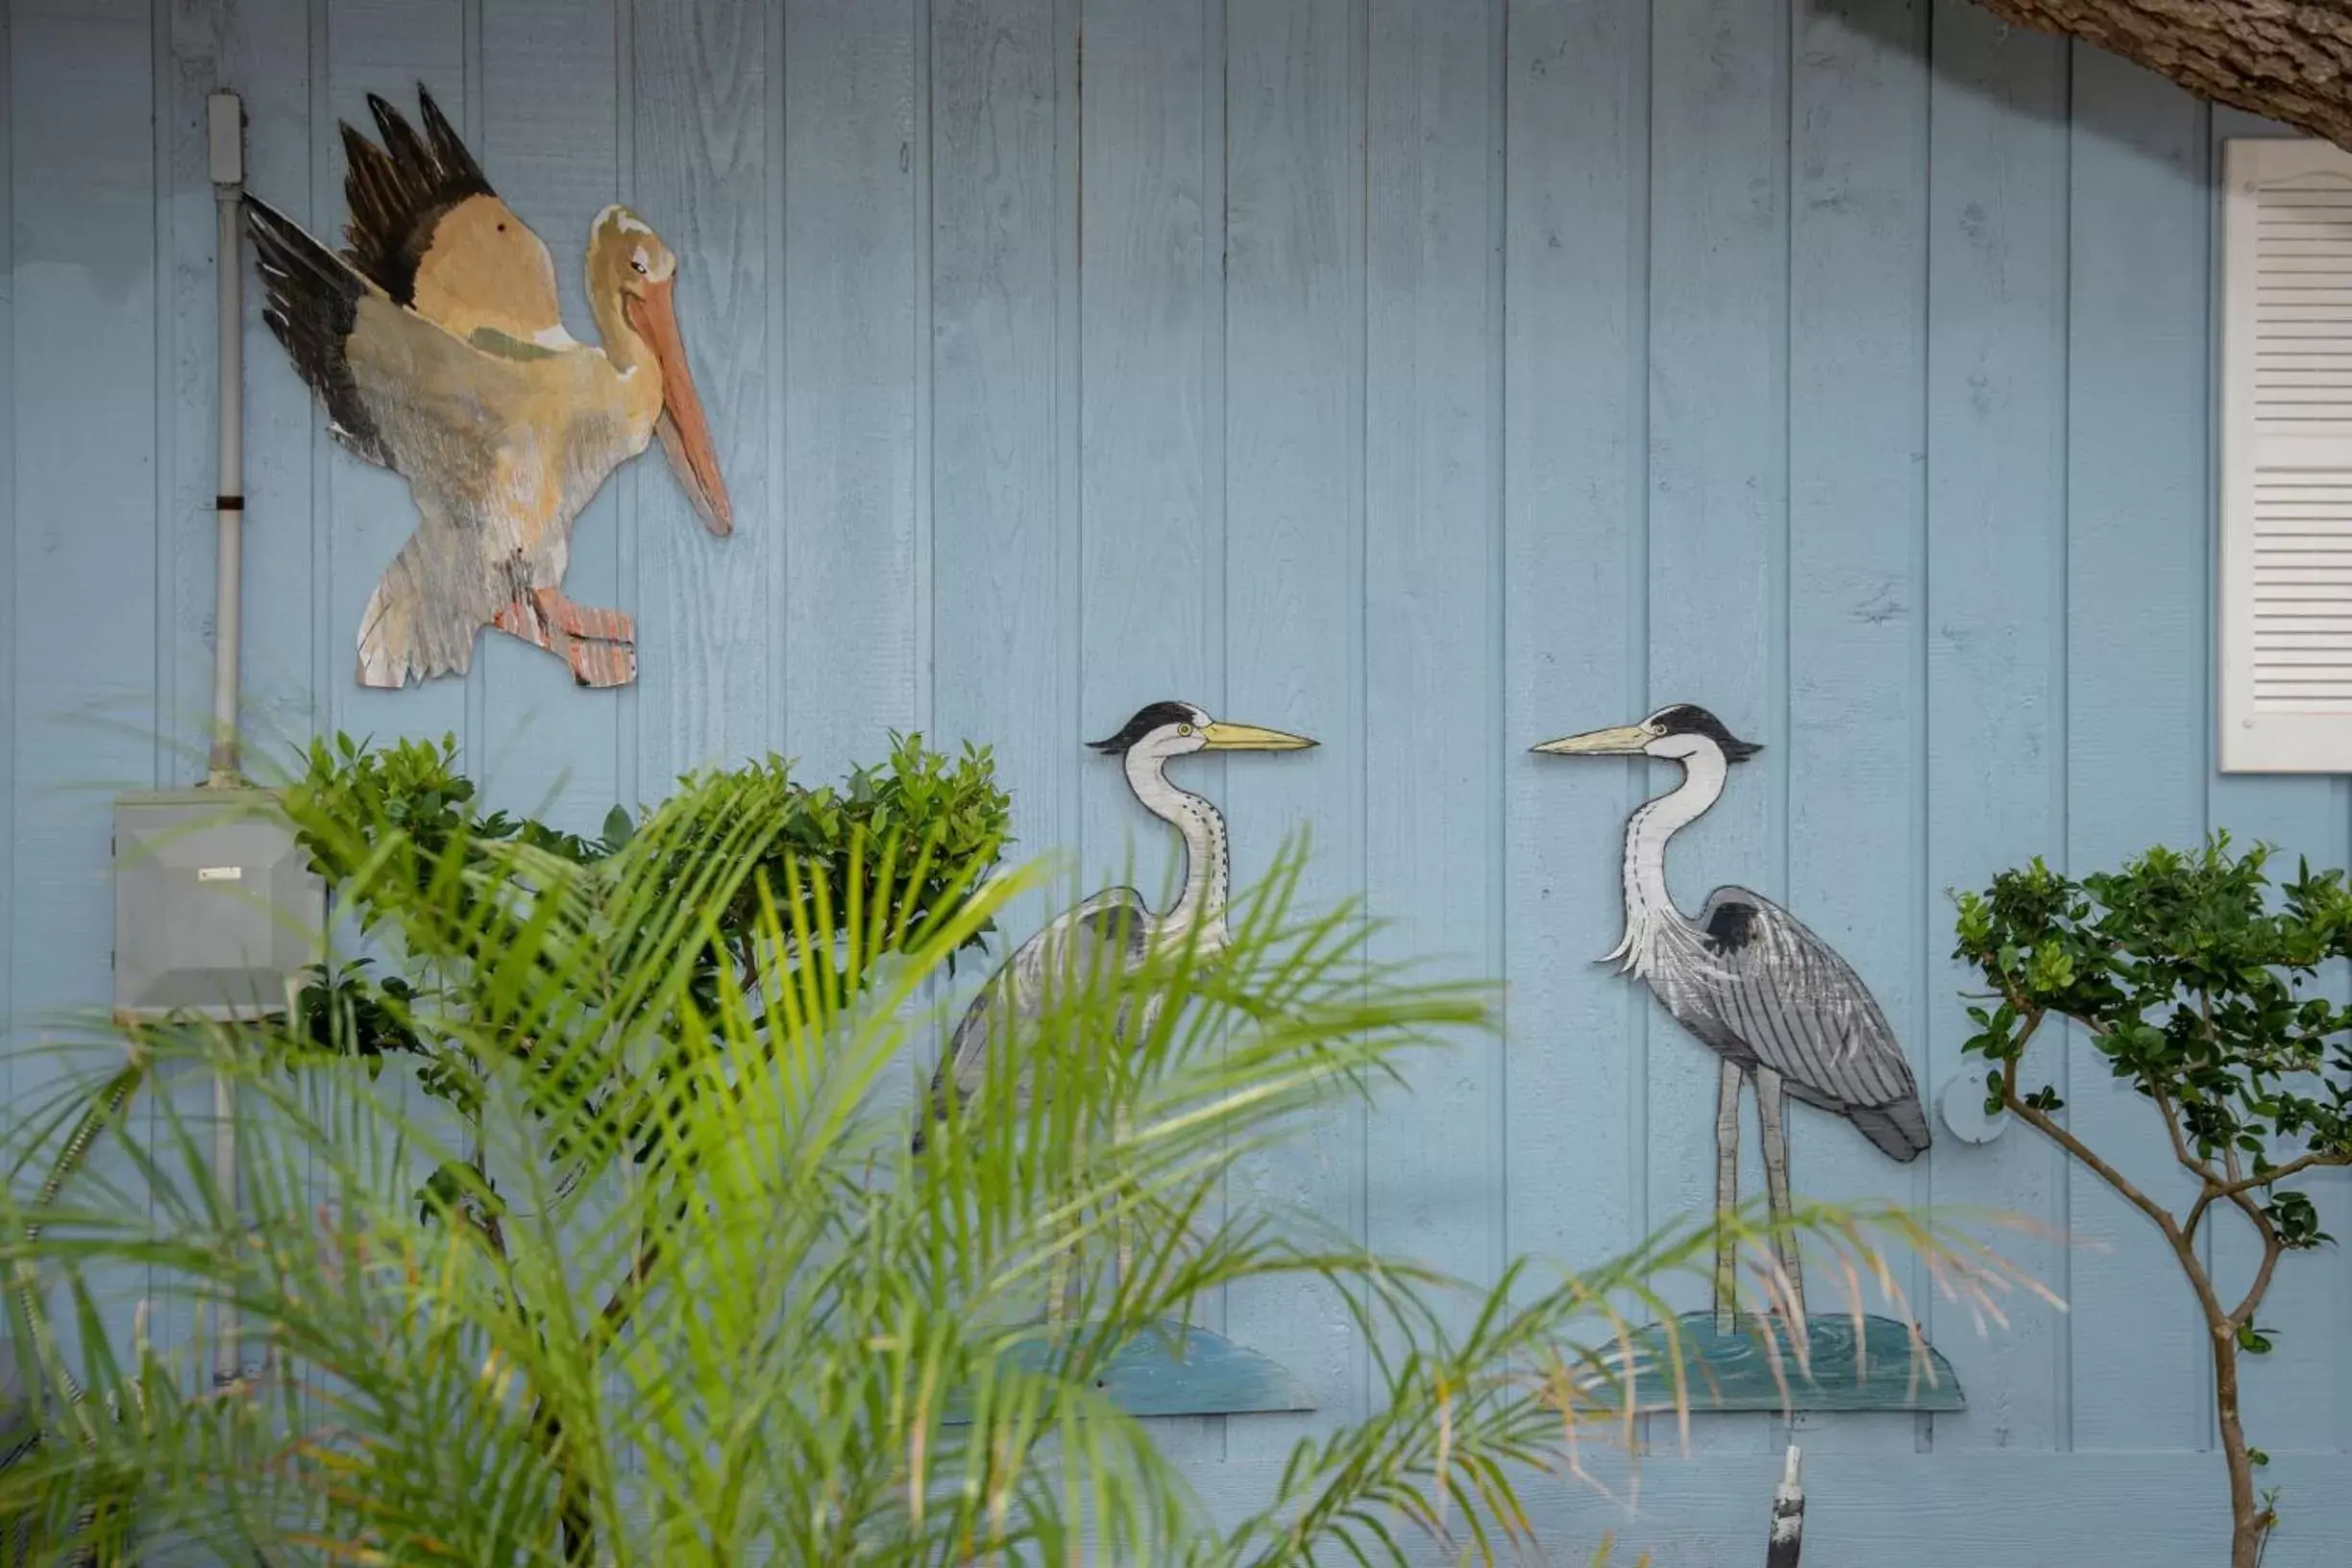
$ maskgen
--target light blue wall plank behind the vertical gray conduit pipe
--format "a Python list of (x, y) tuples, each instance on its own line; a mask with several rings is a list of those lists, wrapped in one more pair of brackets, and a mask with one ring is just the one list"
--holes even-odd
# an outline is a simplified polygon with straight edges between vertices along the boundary
[[(212, 710), (214, 564), (219, 489), (216, 249), (219, 216), (207, 158), (207, 99), (245, 101), (245, 183), (310, 219), (310, 7), (308, 0), (174, 0), (169, 80), (158, 103), (169, 139), (169, 371), (172, 473), (167, 491), (169, 658), (165, 729), (174, 776), (202, 776)], [(285, 369), (285, 350), (261, 322), (261, 294), (245, 289), (245, 769), (270, 780), (308, 741), (313, 715), (315, 569), (310, 508), (310, 395)], [(278, 360), (278, 367), (270, 367)]]

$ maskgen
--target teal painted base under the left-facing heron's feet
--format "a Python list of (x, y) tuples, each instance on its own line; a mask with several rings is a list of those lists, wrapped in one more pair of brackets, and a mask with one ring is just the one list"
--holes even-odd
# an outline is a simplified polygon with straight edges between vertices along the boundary
[[(1773, 1347), (1766, 1347), (1773, 1335)], [(1672, 1408), (1672, 1352), (1679, 1349), (1693, 1410), (1964, 1410), (1959, 1375), (1933, 1345), (1884, 1316), (1806, 1321), (1806, 1368), (1788, 1326), (1740, 1314), (1722, 1331), (1712, 1312), (1675, 1319), (1675, 1345), (1658, 1324), (1635, 1331), (1644, 1368), (1642, 1408)], [(1778, 1368), (1773, 1359), (1778, 1349)]]

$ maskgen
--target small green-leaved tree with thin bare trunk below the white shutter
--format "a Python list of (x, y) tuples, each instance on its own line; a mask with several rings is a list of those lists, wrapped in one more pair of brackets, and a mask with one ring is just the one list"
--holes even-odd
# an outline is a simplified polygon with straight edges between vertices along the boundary
[[(2321, 969), (2352, 957), (2345, 872), (2312, 872), (2272, 891), (2267, 846), (2197, 853), (2150, 849), (2122, 872), (2072, 879), (2042, 860), (1959, 898), (1959, 952), (1992, 983), (1969, 1009), (1966, 1051), (1992, 1063), (1985, 1110), (2009, 1112), (2093, 1171), (2164, 1232), (2213, 1342), (2213, 1392), (2230, 1465), (2232, 1568), (2253, 1568), (2277, 1523), (2246, 1441), (2239, 1356), (2263, 1354), (2258, 1324), (2279, 1260), (2333, 1237), (2310, 1194), (2286, 1185), (2352, 1164), (2352, 1009), (2321, 990)], [(2077, 1023), (2114, 1077), (2164, 1121), (2194, 1182), (2185, 1208), (2126, 1173), (2063, 1119), (2065, 1103), (2025, 1051), (2044, 1023)], [(2187, 1190), (2183, 1190), (2187, 1192)], [(2216, 1279), (2199, 1232), (2232, 1211), (2260, 1241), (2251, 1279)]]

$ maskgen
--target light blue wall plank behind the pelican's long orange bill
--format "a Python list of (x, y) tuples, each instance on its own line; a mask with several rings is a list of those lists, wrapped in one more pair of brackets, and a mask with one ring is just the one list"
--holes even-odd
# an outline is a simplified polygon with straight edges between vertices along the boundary
[[(630, 0), (633, 212), (677, 252), (677, 317), (734, 498), (736, 529), (713, 538), (687, 494), (649, 456), (637, 475), (640, 788), (670, 792), (687, 769), (781, 750), (771, 644), (783, 635), (786, 517), (769, 473), (769, 202), (762, 0)], [(797, 376), (795, 367), (795, 376)], [(823, 461), (823, 454), (811, 454)]]

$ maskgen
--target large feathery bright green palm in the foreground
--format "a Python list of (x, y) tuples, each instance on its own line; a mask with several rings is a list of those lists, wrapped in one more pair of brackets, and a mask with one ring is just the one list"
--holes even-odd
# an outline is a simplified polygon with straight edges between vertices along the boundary
[[(1576, 1469), (1592, 1422), (1623, 1434), (1686, 1408), (1625, 1354), (1625, 1324), (1670, 1319), (1656, 1284), (1703, 1272), (1717, 1225), (1785, 1300), (1745, 1215), (1470, 1288), (1216, 1204), (1301, 1117), (1489, 1025), (1479, 987), (1369, 964), (1352, 910), (1301, 912), (1298, 853), (1214, 961), (1063, 976), (910, 1152), (894, 1091), (938, 1032), (948, 964), (1040, 872), (873, 896), (931, 851), (884, 835), (856, 846), (858, 875), (809, 875), (729, 788), (703, 780), (586, 863), (386, 823), (343, 846), (421, 872), (383, 879), (402, 891), (379, 910), (463, 980), (393, 1004), (470, 1063), (459, 1121), (301, 1020), (141, 1032), (134, 1074), (242, 1081), (242, 1192), (214, 1185), (209, 1131), (167, 1095), (141, 1135), (106, 1098), (129, 1175), (0, 1215), (16, 1276), (61, 1284), (56, 1316), (19, 1314), (19, 1354), (52, 1396), (94, 1394), (52, 1413), (73, 1441), (0, 1472), (0, 1514), (52, 1552), (115, 1549), (122, 1533), (92, 1530), (120, 1521), (261, 1563), (1207, 1568), (1404, 1561), (1414, 1533), (1491, 1556), (1531, 1540), (1524, 1476)], [(729, 910), (750, 912), (731, 947)], [(731, 983), (710, 983), (715, 950)], [(1120, 1039), (1138, 1016), (1148, 1030)], [(1962, 1295), (2002, 1284), (1903, 1213), (1795, 1222), (1856, 1276), (1910, 1246)], [(111, 1342), (94, 1281), (120, 1265), (233, 1307), (266, 1371), (209, 1389), (202, 1345)], [(1061, 1272), (1073, 1309), (1049, 1328)], [(1214, 1528), (1101, 1375), (1211, 1293), (1298, 1274), (1348, 1302), (1383, 1399), (1301, 1441), (1265, 1507)]]

